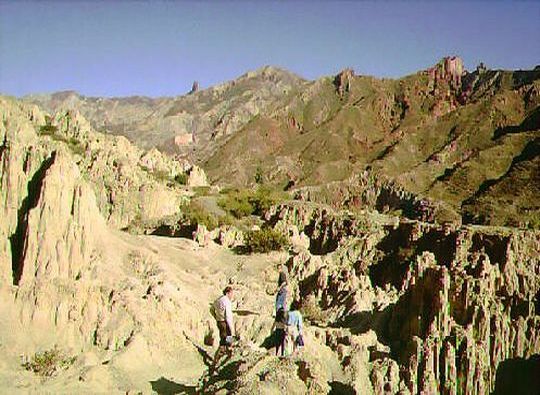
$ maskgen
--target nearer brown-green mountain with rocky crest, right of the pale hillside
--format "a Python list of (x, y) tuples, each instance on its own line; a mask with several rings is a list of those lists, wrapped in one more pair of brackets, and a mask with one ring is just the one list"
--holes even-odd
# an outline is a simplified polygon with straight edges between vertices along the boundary
[(245, 183), (262, 168), (289, 186), (370, 169), (465, 222), (534, 225), (539, 91), (538, 70), (466, 73), (457, 58), (399, 80), (346, 70), (254, 119), (204, 167), (221, 182)]

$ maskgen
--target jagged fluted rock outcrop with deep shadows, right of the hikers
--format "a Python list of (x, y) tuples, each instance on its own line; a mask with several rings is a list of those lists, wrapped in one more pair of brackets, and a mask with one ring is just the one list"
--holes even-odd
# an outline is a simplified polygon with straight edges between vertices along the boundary
[(312, 319), (349, 328), (338, 344), (374, 331), (389, 346), (371, 350), (375, 393), (492, 392), (502, 362), (540, 353), (539, 232), (375, 217), (359, 226), (299, 206), (270, 218), (307, 230), (312, 246), (332, 246), (322, 260), (293, 255), (289, 272), (306, 311), (320, 309)]

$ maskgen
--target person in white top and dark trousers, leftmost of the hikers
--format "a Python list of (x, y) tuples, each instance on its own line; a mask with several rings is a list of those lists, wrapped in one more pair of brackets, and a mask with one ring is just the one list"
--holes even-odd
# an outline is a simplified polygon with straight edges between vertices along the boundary
[(230, 347), (235, 337), (234, 322), (232, 316), (232, 299), (234, 290), (231, 286), (225, 287), (223, 296), (218, 298), (212, 305), (212, 315), (217, 321), (219, 330), (219, 347), (214, 357), (214, 365), (217, 364), (222, 353), (230, 355)]

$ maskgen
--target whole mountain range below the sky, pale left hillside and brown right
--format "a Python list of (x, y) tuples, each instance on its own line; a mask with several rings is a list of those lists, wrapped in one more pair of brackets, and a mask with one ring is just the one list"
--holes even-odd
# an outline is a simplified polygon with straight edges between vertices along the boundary
[(263, 174), (296, 188), (367, 170), (443, 202), (450, 214), (438, 220), (536, 227), (539, 92), (538, 69), (467, 72), (445, 58), (397, 80), (347, 69), (304, 81), (266, 67), (178, 98), (28, 99), (75, 106), (95, 127), (188, 156), (222, 184)]

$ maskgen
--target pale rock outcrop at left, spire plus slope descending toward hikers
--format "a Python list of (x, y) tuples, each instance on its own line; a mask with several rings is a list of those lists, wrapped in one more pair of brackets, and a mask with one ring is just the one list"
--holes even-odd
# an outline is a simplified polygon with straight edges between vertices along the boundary
[[(0, 104), (0, 337), (2, 347), (9, 344), (2, 353), (33, 355), (54, 344), (77, 357), (107, 352), (117, 371), (133, 370), (136, 356), (198, 377), (203, 362), (189, 339), (202, 339), (206, 325), (198, 302), (180, 291), (183, 280), (166, 272), (156, 252), (107, 227), (76, 156), (36, 133), (39, 112), (9, 99)], [(158, 348), (163, 354), (155, 357)], [(103, 369), (102, 361), (85, 362), (79, 382), (91, 380), (88, 370)]]

